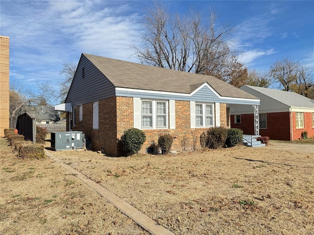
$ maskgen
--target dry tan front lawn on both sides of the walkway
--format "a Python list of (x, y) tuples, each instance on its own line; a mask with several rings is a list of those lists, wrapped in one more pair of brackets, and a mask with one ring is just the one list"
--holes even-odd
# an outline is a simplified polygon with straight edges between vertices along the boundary
[[(51, 160), (6, 151), (1, 146), (0, 234), (146, 234)], [(314, 235), (313, 152), (48, 151), (176, 235)]]

